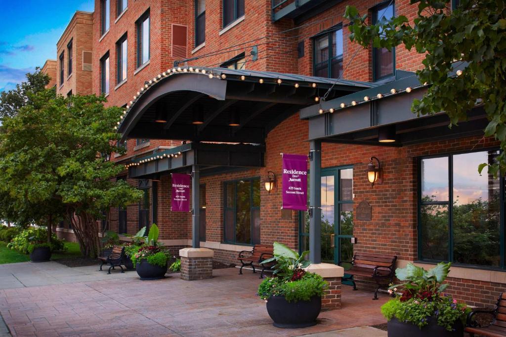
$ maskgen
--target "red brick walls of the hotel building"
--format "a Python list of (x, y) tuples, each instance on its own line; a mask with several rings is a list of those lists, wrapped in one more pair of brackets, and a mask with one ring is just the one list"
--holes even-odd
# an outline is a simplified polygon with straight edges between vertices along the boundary
[[(111, 0), (110, 28), (101, 36), (100, 1), (95, 1), (93, 14), (92, 39), (93, 72), (90, 84), (91, 93), (100, 94), (100, 59), (109, 52), (110, 89), (107, 96), (108, 106), (124, 106), (129, 104), (144, 82), (152, 79), (167, 68), (172, 68), (174, 61), (181, 60), (174, 56), (173, 30), (174, 25), (187, 27), (186, 56), (200, 57), (187, 62), (191, 66), (219, 66), (223, 62), (245, 53), (246, 69), (260, 71), (277, 71), (313, 75), (313, 40), (312, 37), (330, 27), (344, 22), (342, 15), (347, 5), (356, 6), (361, 13), (368, 12), (381, 3), (381, 0), (347, 1), (335, 5), (328, 10), (297, 24), (290, 19), (272, 22), (271, 0), (245, 1), (245, 15), (233, 25), (223, 29), (223, 8), (221, 0), (206, 1), (205, 45), (195, 48), (195, 22), (193, 0), (151, 0), (131, 1), (129, 8), (120, 14), (116, 13), (116, 2)], [(136, 60), (137, 28), (136, 21), (149, 9), (151, 20), (150, 61), (138, 69)], [(417, 6), (410, 5), (409, 0), (395, 2), (395, 15), (404, 15), (412, 20), (416, 16)], [(76, 14), (77, 15), (77, 14)], [(74, 19), (73, 19), (74, 20)], [(71, 23), (72, 24), (72, 23)], [(67, 31), (70, 29), (71, 24)], [(289, 32), (279, 32), (293, 29)], [(67, 32), (66, 31), (66, 32)], [(116, 42), (124, 34), (128, 36), (128, 71), (127, 79), (122, 83), (116, 81)], [(65, 46), (69, 40), (62, 36), (59, 46)], [(245, 45), (241, 43), (250, 41)], [(350, 42), (349, 32), (343, 29), (343, 65), (345, 79), (372, 81), (372, 51)], [(304, 56), (299, 57), (297, 47), (303, 42)], [(252, 46), (258, 46), (258, 60), (252, 61)], [(236, 47), (233, 47), (236, 46)], [(232, 51), (233, 50), (233, 51)], [(59, 47), (60, 51), (60, 47)], [(219, 51), (219, 53), (216, 53)], [(206, 56), (212, 54), (213, 56)], [(415, 51), (406, 51), (399, 47), (395, 51), (396, 69), (415, 71), (421, 68), (423, 55)], [(59, 54), (57, 54), (58, 56)], [(203, 57), (206, 56), (206, 57)], [(353, 57), (353, 59), (352, 59)], [(351, 62), (350, 62), (351, 61)], [(349, 64), (349, 67), (347, 65)], [(77, 75), (77, 74), (74, 74)], [(74, 76), (72, 75), (72, 76)], [(58, 76), (58, 75), (57, 75)], [(66, 85), (66, 84), (65, 84)], [(61, 89), (66, 93), (67, 87)], [(68, 90), (67, 90), (68, 91)], [(76, 92), (78, 92), (77, 90)], [(322, 93), (320, 93), (322, 94)], [(202, 247), (214, 250), (214, 259), (222, 263), (237, 263), (236, 257), (241, 249), (248, 247), (237, 245), (230, 249), (224, 241), (223, 221), (223, 183), (225, 181), (260, 177), (261, 179), (261, 242), (271, 244), (282, 242), (287, 246), (299, 247), (299, 213), (285, 212), (282, 214), (281, 188), (277, 186), (270, 193), (263, 188), (267, 171), (276, 174), (278, 184), (281, 180), (280, 153), (307, 154), (309, 143), (308, 122), (302, 121), (296, 113), (277, 125), (266, 135), (265, 167), (251, 170), (202, 176), (200, 183), (206, 188), (206, 242)], [(173, 147), (181, 144), (178, 140), (154, 140), (136, 146), (135, 139), (129, 139), (126, 154), (113, 155), (113, 160), (125, 162), (135, 156), (150, 153), (158, 148)], [(372, 221), (354, 222), (353, 235), (357, 238), (355, 252), (371, 252), (395, 254), (399, 261), (415, 261), (417, 252), (417, 161), (419, 156), (435, 155), (457, 151), (485, 149), (497, 146), (488, 138), (466, 137), (444, 141), (433, 141), (419, 145), (390, 148), (363, 145), (338, 145), (323, 143), (322, 167), (353, 166), (353, 207), (361, 201), (368, 201), (372, 207)], [(372, 187), (367, 181), (366, 168), (369, 158), (375, 156), (382, 163), (383, 184)], [(128, 179), (137, 186), (137, 180)], [(171, 246), (172, 251), (186, 247), (191, 240), (191, 214), (170, 211), (170, 176), (160, 178), (157, 187), (158, 213), (157, 224), (160, 228), (160, 239), (177, 240)], [(153, 192), (150, 191), (150, 202)], [(139, 204), (129, 205), (127, 209), (129, 234), (139, 228)], [(152, 217), (150, 217), (150, 221)], [(111, 229), (118, 229), (118, 210), (111, 210)], [(213, 246), (213, 247), (211, 247)], [(228, 246), (228, 247), (227, 247)], [(223, 248), (225, 247), (225, 249)], [(463, 269), (463, 268), (461, 268)], [(495, 276), (490, 280), (481, 280), (477, 276), (450, 277), (448, 293), (469, 304), (489, 305), (495, 301), (497, 293), (506, 287), (506, 278), (497, 276), (500, 271), (493, 271)], [(494, 278), (495, 277), (495, 278)], [(486, 277), (484, 277), (486, 278)], [(493, 280), (503, 280), (494, 282)], [(338, 282), (337, 280), (335, 282)], [(335, 299), (338, 294), (335, 284)], [(332, 303), (332, 300), (330, 302)], [(325, 302), (325, 305), (328, 304)]]

